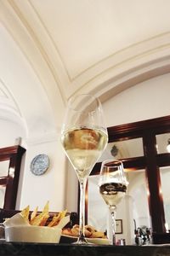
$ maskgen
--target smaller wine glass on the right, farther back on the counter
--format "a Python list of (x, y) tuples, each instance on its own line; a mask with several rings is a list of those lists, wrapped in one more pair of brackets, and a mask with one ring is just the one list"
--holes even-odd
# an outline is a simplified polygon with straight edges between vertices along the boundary
[(116, 206), (122, 201), (127, 191), (127, 180), (119, 160), (105, 160), (99, 175), (99, 193), (103, 197), (111, 212), (112, 239), (116, 245)]

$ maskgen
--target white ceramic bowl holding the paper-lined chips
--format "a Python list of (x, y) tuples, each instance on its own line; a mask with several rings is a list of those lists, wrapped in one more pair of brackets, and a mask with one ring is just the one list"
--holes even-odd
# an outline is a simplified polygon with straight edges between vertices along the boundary
[(5, 228), (6, 241), (59, 243), (62, 230), (46, 226), (13, 226)]

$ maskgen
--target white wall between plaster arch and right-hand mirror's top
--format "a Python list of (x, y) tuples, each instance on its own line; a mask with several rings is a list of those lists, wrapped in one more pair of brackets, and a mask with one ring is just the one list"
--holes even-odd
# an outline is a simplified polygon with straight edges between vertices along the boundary
[(104, 103), (108, 126), (170, 114), (170, 73), (122, 91)]

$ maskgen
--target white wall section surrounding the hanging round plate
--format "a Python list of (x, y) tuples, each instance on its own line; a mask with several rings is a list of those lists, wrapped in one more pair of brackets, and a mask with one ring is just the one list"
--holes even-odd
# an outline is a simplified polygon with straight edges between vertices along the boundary
[[(41, 176), (31, 172), (31, 160), (37, 154), (48, 154), (50, 165)], [(49, 201), (50, 211), (65, 209), (65, 155), (59, 140), (30, 145), (26, 150), (25, 170), (20, 183), (20, 195), (17, 207), (22, 209), (30, 205), (42, 210)]]

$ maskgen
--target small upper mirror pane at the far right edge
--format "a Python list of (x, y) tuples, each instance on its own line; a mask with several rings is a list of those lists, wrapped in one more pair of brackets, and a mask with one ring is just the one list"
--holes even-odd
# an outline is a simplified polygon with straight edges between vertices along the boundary
[(163, 154), (168, 152), (170, 153), (170, 151), (167, 150), (167, 144), (169, 140), (170, 140), (170, 133), (163, 133), (163, 134), (156, 135), (156, 144), (157, 144), (158, 154)]

